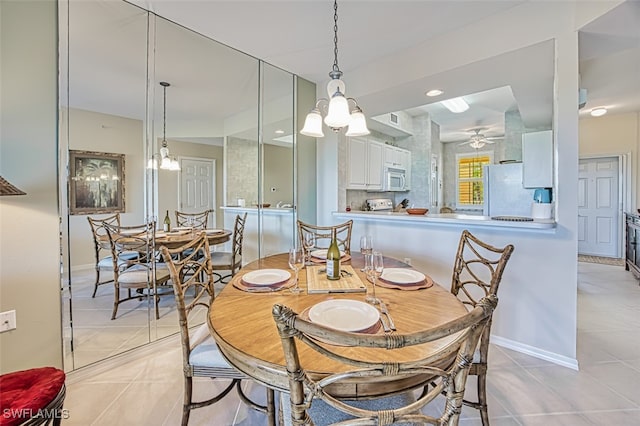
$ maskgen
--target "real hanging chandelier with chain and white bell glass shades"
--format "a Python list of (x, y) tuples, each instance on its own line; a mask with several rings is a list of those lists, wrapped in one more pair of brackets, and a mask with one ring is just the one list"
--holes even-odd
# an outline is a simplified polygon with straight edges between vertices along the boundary
[[(368, 135), (367, 120), (362, 113), (362, 109), (353, 98), (345, 97), (345, 85), (340, 79), (342, 71), (338, 67), (338, 2), (333, 2), (333, 68), (329, 72), (331, 80), (327, 84), (328, 99), (321, 98), (316, 102), (316, 106), (307, 114), (304, 127), (300, 131), (303, 135), (315, 138), (324, 137), (322, 132), (322, 110), (326, 109), (324, 124), (329, 126), (334, 132), (339, 132), (343, 127), (349, 126), (346, 136)], [(349, 101), (353, 102), (353, 108), (349, 109)]]

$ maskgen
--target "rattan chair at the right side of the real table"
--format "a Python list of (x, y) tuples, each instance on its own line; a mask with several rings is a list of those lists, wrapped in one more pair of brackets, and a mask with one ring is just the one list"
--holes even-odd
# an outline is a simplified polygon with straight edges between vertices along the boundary
[[(483, 297), (498, 295), (498, 287), (514, 246), (493, 247), (475, 237), (466, 229), (462, 231), (451, 279), (451, 293), (467, 305), (475, 308)], [(480, 337), (480, 344), (474, 354), (470, 376), (477, 376), (477, 402), (464, 400), (464, 404), (480, 410), (484, 426), (489, 425), (487, 407), (487, 361), (489, 357), (489, 337), (491, 317)]]

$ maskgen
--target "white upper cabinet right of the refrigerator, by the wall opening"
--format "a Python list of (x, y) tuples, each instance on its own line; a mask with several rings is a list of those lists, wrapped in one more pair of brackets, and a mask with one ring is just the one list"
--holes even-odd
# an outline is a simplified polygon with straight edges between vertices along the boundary
[(522, 185), (525, 188), (553, 187), (553, 132), (522, 135)]

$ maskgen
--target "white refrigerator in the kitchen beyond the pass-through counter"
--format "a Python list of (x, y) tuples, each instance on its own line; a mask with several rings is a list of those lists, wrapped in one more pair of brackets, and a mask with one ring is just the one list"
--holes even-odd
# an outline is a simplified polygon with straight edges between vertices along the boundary
[(484, 167), (484, 215), (531, 217), (535, 189), (522, 186), (522, 163)]

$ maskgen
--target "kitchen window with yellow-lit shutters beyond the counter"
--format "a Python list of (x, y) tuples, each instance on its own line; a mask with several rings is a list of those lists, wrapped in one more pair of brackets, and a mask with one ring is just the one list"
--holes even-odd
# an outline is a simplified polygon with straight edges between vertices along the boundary
[(458, 206), (482, 208), (484, 205), (483, 167), (491, 164), (490, 153), (460, 154), (458, 162)]

